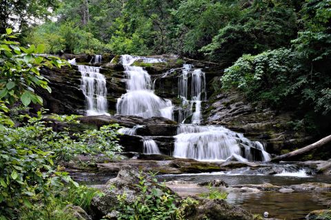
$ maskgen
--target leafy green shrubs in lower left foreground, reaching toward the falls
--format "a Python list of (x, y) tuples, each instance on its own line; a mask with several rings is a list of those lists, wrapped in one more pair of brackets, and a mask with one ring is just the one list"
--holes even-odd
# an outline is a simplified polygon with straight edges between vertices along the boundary
[[(117, 144), (115, 126), (100, 130), (86, 130), (81, 134), (54, 132), (38, 118), (28, 117), (28, 122), (18, 128), (0, 128), (0, 217), (14, 217), (20, 206), (31, 208), (30, 199), (49, 197), (52, 190), (63, 188), (64, 182), (74, 183), (66, 172), (57, 166), (77, 154), (114, 157), (121, 150)], [(87, 206), (92, 191), (77, 188), (79, 194), (72, 202)], [(86, 196), (86, 197), (85, 197)]]

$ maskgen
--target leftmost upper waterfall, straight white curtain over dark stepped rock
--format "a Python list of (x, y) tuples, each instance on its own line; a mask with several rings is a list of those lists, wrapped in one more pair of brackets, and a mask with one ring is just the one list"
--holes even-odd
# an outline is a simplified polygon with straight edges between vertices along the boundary
[(78, 70), (81, 72), (81, 90), (86, 98), (87, 115), (108, 114), (106, 78), (100, 73), (100, 68), (79, 65)]

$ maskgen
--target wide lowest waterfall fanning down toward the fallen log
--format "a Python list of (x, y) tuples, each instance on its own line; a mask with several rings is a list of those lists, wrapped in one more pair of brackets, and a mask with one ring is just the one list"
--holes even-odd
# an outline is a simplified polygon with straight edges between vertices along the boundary
[(252, 148), (261, 152), (261, 161), (270, 156), (259, 142), (250, 141), (242, 134), (224, 127), (182, 124), (175, 136), (174, 157), (200, 161), (226, 161), (234, 157), (238, 161), (255, 161)]

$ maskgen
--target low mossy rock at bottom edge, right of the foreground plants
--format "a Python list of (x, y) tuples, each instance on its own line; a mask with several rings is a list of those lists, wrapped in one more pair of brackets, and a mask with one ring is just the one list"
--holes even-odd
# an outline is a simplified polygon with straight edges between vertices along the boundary
[(198, 205), (185, 210), (185, 219), (200, 220), (252, 220), (253, 215), (239, 206), (232, 206), (223, 199), (201, 199)]

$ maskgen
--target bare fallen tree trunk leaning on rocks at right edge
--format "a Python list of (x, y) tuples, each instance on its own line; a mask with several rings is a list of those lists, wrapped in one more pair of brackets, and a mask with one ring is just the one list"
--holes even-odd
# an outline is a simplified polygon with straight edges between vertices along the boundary
[(305, 154), (306, 152), (310, 152), (311, 150), (315, 150), (317, 148), (320, 148), (321, 146), (324, 146), (325, 143), (329, 143), (331, 142), (331, 135), (327, 136), (327, 137), (324, 137), (323, 139), (315, 142), (315, 143), (312, 143), (308, 146), (305, 146), (304, 148), (301, 148), (299, 150), (294, 150), (292, 152), (289, 152), (287, 154), (283, 154), (283, 155), (280, 155), (278, 157), (274, 157), (273, 159), (271, 159), (272, 162), (275, 162), (275, 161), (281, 161), (281, 160), (288, 160), (292, 157), (296, 157), (296, 156), (299, 156), (301, 154)]

